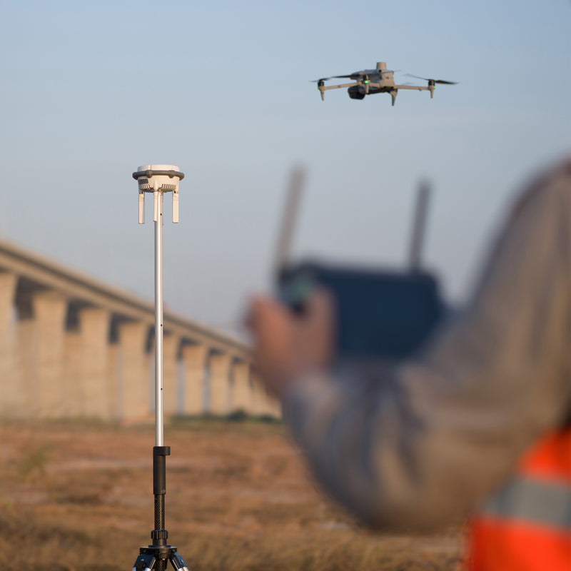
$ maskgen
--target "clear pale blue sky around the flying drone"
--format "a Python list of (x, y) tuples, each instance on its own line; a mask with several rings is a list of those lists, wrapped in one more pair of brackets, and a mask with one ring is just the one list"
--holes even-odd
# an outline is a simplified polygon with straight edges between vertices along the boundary
[[(461, 300), (522, 181), (571, 153), (569, 0), (1, 7), (0, 237), (152, 300), (153, 224), (137, 223), (131, 173), (178, 165), (165, 304), (210, 325), (271, 289), (294, 164), (308, 170), (296, 258), (403, 266), (428, 178), (426, 264)], [(344, 89), (322, 102), (309, 82), (377, 61), (399, 82), (459, 83), (392, 108)]]

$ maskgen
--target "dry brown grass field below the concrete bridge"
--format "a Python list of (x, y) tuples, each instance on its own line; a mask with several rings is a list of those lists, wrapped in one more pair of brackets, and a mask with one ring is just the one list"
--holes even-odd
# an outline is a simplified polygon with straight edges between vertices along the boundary
[[(166, 528), (191, 571), (453, 571), (460, 534), (374, 535), (315, 489), (281, 425), (166, 426)], [(0, 569), (129, 570), (151, 542), (153, 425), (0, 425)], [(170, 568), (170, 567), (169, 567)]]

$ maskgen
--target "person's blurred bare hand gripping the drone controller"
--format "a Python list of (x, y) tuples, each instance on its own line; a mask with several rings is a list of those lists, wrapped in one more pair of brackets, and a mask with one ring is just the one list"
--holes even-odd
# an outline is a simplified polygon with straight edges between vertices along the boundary
[(302, 375), (326, 368), (333, 357), (333, 303), (323, 290), (301, 314), (272, 298), (253, 298), (246, 326), (253, 336), (253, 367), (268, 393), (278, 398)]

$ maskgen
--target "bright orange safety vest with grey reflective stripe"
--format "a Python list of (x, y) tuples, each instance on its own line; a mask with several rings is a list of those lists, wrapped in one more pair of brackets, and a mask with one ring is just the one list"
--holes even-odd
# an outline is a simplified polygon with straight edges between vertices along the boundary
[(571, 571), (571, 426), (524, 455), (469, 537), (470, 571)]

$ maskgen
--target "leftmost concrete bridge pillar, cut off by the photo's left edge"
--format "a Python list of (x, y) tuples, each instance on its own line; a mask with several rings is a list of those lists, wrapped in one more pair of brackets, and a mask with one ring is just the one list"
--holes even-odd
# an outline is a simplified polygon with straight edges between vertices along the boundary
[(24, 415), (26, 395), (16, 374), (16, 336), (14, 335), (14, 298), (18, 276), (11, 272), (0, 273), (0, 378), (2, 398), (0, 415), (19, 418)]

